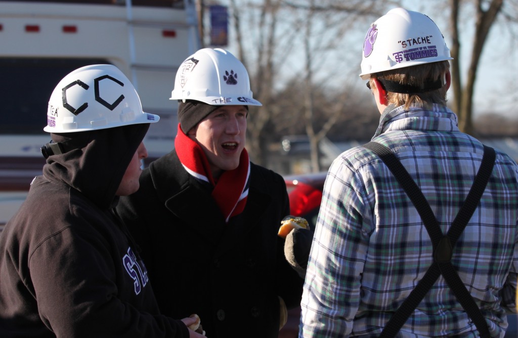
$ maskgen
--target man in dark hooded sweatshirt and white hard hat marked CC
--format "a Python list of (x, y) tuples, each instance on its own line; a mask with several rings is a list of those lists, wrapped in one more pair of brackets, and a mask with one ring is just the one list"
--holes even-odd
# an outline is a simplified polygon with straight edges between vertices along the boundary
[(142, 111), (113, 65), (81, 67), (55, 87), (43, 174), (0, 236), (0, 336), (202, 337), (195, 319), (160, 314), (138, 247), (112, 209), (139, 187)]

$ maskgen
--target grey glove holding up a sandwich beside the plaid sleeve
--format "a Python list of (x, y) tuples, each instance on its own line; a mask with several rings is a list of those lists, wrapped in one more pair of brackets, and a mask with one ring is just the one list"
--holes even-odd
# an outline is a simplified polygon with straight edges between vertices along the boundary
[(284, 242), (284, 256), (291, 267), (302, 278), (306, 276), (312, 242), (313, 231), (302, 228), (290, 231)]

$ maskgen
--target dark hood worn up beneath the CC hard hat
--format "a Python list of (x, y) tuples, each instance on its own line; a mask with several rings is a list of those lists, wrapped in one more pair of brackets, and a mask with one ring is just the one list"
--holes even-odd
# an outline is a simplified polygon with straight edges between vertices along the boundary
[(149, 129), (149, 123), (116, 128), (51, 133), (62, 154), (43, 167), (49, 181), (61, 181), (87, 196), (101, 209), (111, 207), (127, 166)]

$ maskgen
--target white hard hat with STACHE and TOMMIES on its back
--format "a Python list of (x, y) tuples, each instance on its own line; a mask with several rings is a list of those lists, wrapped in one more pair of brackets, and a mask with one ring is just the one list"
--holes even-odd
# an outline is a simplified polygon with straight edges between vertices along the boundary
[(363, 80), (379, 71), (452, 60), (439, 28), (422, 13), (395, 8), (371, 24), (363, 45)]

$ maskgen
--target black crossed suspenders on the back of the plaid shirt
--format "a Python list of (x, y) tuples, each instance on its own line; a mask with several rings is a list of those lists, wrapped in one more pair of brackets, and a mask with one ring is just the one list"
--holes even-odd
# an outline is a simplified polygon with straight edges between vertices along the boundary
[(471, 219), (474, 211), (477, 209), (480, 198), (482, 197), (487, 182), (491, 176), (493, 166), (495, 165), (495, 150), (484, 145), (482, 163), (473, 185), (469, 190), (468, 197), (464, 201), (458, 214), (455, 216), (450, 230), (448, 230), (448, 233), (444, 235), (439, 227), (437, 218), (433, 211), (431, 211), (430, 205), (426, 201), (421, 189), (417, 184), (415, 184), (408, 171), (401, 165), (400, 161), (392, 151), (378, 142), (369, 142), (363, 146), (377, 154), (383, 160), (385, 165), (389, 167), (392, 174), (414, 204), (415, 209), (419, 212), (424, 226), (426, 227), (426, 231), (434, 245), (434, 262), (428, 268), (422, 280), (419, 281), (418, 285), (412, 290), (412, 292), (410, 292), (408, 298), (397, 309), (389, 322), (387, 322), (387, 325), (380, 334), (380, 338), (396, 336), (440, 275), (444, 277), (444, 280), (452, 289), (458, 302), (461, 303), (462, 307), (477, 327), (480, 336), (483, 338), (490, 338), (489, 329), (484, 316), (473, 300), (473, 297), (471, 297), (469, 291), (464, 286), (461, 278), (458, 276), (455, 267), (451, 263), (451, 258), (453, 247), (461, 233), (464, 231), (464, 228)]

